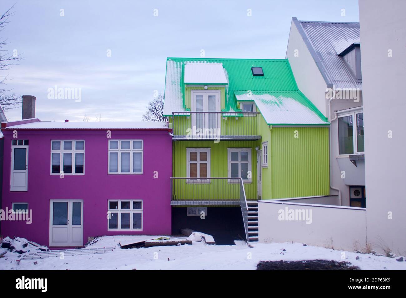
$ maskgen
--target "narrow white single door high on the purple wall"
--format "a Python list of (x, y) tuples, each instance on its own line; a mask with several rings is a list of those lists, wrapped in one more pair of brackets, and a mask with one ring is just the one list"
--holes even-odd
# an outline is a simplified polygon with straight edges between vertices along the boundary
[(10, 191), (28, 190), (28, 145), (11, 146)]

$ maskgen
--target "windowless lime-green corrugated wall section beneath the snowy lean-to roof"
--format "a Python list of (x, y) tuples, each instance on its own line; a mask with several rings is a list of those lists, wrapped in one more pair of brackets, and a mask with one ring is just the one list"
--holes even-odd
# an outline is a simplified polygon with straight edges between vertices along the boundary
[[(295, 131), (298, 138), (294, 137)], [(329, 195), (328, 146), (328, 128), (274, 127), (270, 142), (271, 198)]]

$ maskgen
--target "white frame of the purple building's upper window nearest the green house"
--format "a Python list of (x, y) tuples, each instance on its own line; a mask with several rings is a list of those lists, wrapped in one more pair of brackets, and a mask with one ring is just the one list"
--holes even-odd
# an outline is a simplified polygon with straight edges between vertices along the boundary
[[(110, 142), (111, 141), (118, 141), (118, 148), (117, 149), (110, 149)], [(130, 149), (121, 149), (121, 141), (130, 141)], [(134, 148), (134, 141), (141, 141), (141, 149), (133, 149)], [(107, 173), (109, 175), (143, 175), (144, 174), (144, 140), (143, 139), (109, 139), (107, 142)], [(118, 153), (118, 172), (110, 172), (110, 153)], [(130, 153), (130, 173), (121, 172), (121, 152), (129, 152)], [(133, 172), (133, 153), (140, 152), (141, 153), (141, 172), (134, 173)]]

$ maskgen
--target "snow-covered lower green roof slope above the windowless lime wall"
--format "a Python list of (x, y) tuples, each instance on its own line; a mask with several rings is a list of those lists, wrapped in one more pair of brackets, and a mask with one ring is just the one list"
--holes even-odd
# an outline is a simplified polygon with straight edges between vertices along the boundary
[[(292, 94), (235, 94), (237, 101), (254, 101), (267, 124), (327, 125), (314, 110), (300, 103)], [(249, 97), (248, 97), (249, 96)], [(317, 111), (317, 109), (316, 109)]]

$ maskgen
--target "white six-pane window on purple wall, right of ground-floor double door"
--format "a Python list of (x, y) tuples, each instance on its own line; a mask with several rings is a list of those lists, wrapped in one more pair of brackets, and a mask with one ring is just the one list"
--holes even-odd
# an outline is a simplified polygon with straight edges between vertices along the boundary
[(108, 231), (142, 231), (143, 200), (108, 200)]

